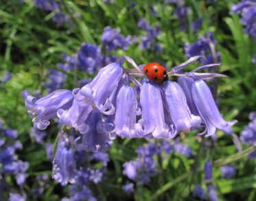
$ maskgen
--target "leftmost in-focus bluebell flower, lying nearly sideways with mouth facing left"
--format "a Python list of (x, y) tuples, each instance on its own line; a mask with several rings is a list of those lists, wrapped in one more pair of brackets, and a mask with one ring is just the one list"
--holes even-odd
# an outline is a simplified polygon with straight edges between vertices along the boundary
[(35, 97), (28, 96), (25, 100), (25, 106), (30, 117), (33, 118), (34, 126), (39, 130), (45, 130), (49, 126), (49, 119), (56, 116), (58, 109), (67, 110), (72, 101), (71, 91), (60, 89), (38, 100)]

